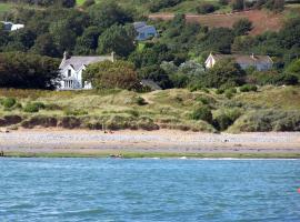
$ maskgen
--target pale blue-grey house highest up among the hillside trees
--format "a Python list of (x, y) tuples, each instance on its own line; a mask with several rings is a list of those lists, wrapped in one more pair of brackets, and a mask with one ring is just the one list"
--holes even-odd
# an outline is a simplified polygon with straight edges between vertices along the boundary
[(134, 22), (133, 27), (137, 31), (136, 40), (138, 41), (144, 41), (158, 36), (156, 27), (147, 26), (144, 21)]

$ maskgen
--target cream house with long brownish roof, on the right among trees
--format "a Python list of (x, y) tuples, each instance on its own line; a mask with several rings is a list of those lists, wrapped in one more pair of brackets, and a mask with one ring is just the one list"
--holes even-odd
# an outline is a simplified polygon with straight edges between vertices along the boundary
[(210, 53), (207, 61), (206, 68), (212, 68), (216, 62), (224, 59), (234, 60), (242, 69), (247, 69), (249, 67), (256, 68), (258, 71), (266, 71), (272, 68), (273, 61), (269, 56), (247, 56), (247, 54), (214, 54)]

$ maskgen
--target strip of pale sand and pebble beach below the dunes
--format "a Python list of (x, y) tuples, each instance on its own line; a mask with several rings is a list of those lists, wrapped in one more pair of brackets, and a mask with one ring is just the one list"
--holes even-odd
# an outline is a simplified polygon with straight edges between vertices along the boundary
[(0, 133), (4, 153), (300, 153), (300, 132), (202, 132), (34, 129)]

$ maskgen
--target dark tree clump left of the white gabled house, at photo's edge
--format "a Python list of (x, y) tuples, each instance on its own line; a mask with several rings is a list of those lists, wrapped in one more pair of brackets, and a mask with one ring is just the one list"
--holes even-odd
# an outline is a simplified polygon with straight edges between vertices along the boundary
[(59, 61), (37, 54), (0, 53), (0, 87), (19, 89), (54, 89), (59, 79)]

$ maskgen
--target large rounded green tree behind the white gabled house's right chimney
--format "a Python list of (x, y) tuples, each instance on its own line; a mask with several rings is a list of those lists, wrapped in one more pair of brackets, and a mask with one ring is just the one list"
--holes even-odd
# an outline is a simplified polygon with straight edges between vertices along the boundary
[(98, 53), (110, 53), (114, 51), (121, 57), (130, 54), (136, 46), (132, 34), (133, 27), (112, 26), (107, 29), (98, 40)]

